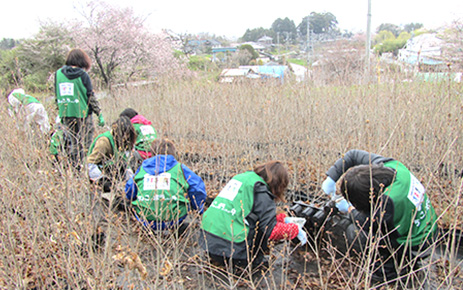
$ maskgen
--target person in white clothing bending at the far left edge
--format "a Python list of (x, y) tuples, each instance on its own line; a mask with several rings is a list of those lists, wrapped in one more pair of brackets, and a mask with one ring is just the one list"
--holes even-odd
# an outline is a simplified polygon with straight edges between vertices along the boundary
[(7, 100), (10, 116), (16, 116), (22, 120), (25, 130), (36, 124), (42, 133), (47, 134), (50, 131), (47, 111), (36, 98), (18, 88), (7, 94)]

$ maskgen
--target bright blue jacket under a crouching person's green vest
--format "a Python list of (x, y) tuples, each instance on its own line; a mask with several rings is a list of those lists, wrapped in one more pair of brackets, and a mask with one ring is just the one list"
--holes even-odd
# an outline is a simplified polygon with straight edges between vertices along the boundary
[[(174, 166), (178, 164), (178, 161), (172, 155), (156, 155), (154, 157), (148, 158), (143, 161), (143, 168), (145, 171), (152, 175), (158, 175), (163, 172), (169, 171)], [(185, 179), (188, 182), (188, 198), (190, 199), (191, 208), (197, 210), (200, 214), (204, 211), (204, 201), (206, 200), (206, 186), (201, 177), (196, 175), (190, 168), (186, 165), (181, 164), (183, 172), (185, 174)], [(141, 166), (140, 166), (141, 168)], [(137, 169), (134, 176), (140, 171), (140, 168)], [(138, 194), (138, 188), (135, 184), (133, 177), (127, 181), (125, 185), (125, 195), (126, 198), (130, 201), (136, 200)], [(181, 217), (178, 222), (181, 223), (186, 218), (186, 215)], [(154, 221), (143, 221), (138, 216), (137, 219), (143, 222), (146, 226), (150, 226), (153, 229), (165, 229), (174, 224), (175, 221), (170, 223), (164, 223), (158, 225)]]

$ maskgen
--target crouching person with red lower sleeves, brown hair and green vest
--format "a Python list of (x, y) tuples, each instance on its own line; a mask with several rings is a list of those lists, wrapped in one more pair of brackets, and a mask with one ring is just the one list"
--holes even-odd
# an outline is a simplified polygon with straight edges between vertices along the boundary
[(203, 215), (200, 244), (218, 265), (246, 267), (264, 262), (268, 240), (292, 240), (304, 244), (302, 227), (285, 223), (276, 213), (275, 200), (284, 201), (288, 172), (280, 161), (258, 165), (233, 177)]

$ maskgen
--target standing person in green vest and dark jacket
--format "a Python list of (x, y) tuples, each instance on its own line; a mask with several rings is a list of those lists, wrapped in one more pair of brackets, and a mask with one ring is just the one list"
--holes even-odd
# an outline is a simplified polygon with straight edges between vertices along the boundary
[(90, 57), (82, 49), (76, 48), (69, 51), (66, 64), (55, 73), (58, 116), (71, 137), (68, 155), (74, 166), (83, 162), (85, 150), (93, 140), (95, 129), (92, 113), (98, 116), (99, 126), (105, 124), (87, 73), (91, 64)]

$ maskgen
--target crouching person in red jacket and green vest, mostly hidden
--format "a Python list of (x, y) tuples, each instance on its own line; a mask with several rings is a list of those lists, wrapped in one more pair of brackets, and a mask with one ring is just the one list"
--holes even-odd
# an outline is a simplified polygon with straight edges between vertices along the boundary
[(120, 116), (129, 118), (137, 132), (134, 154), (137, 160), (136, 168), (138, 168), (143, 160), (153, 157), (151, 143), (158, 137), (158, 133), (151, 121), (132, 108), (124, 109)]

